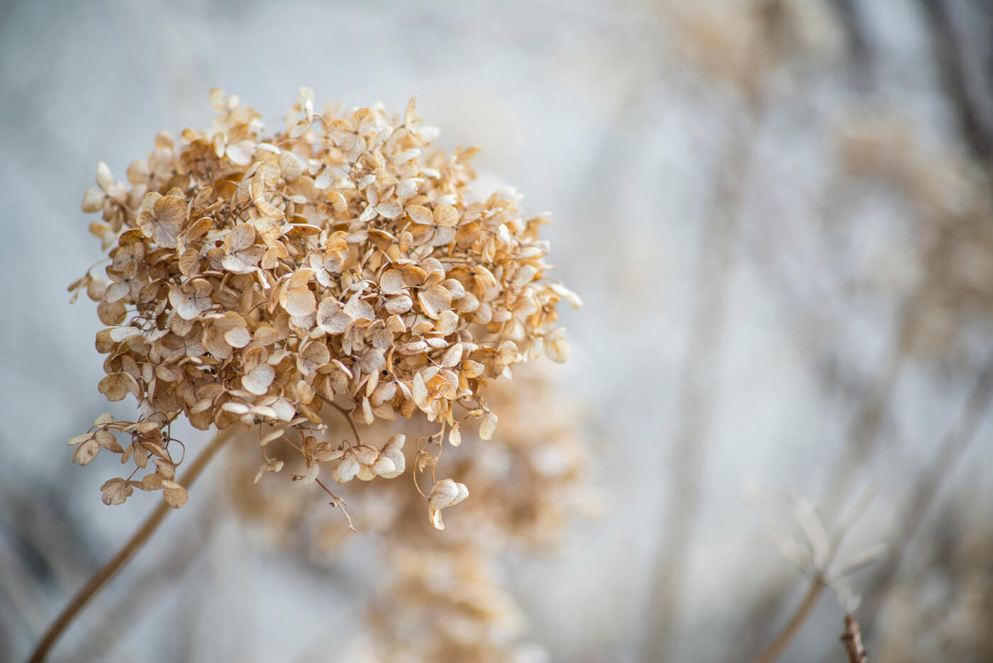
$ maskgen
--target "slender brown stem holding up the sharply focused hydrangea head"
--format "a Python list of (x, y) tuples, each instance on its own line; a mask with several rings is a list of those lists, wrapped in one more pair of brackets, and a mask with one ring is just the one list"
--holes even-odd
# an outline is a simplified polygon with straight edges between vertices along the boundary
[[(230, 426), (227, 429), (220, 431), (213, 438), (213, 441), (208, 445), (200, 455), (194, 459), (190, 468), (187, 469), (186, 473), (180, 478), (179, 483), (185, 487), (189, 488), (190, 485), (197, 480), (201, 472), (204, 471), (204, 467), (210, 463), (214, 455), (224, 446), (224, 443), (230, 439), (231, 434), (235, 431), (234, 426)], [(38, 646), (35, 647), (35, 651), (31, 654), (31, 658), (28, 659), (29, 663), (40, 663), (44, 661), (46, 656), (48, 656), (49, 650), (52, 645), (55, 644), (56, 640), (62, 635), (62, 632), (66, 630), (66, 627), (70, 625), (72, 619), (79, 613), (80, 610), (89, 602), (89, 599), (95, 595), (100, 588), (102, 588), (107, 581), (113, 578), (120, 569), (131, 559), (131, 557), (140, 549), (149, 537), (158, 529), (162, 520), (166, 517), (173, 508), (169, 506), (165, 501), (159, 505), (155, 511), (148, 517), (145, 523), (141, 526), (137, 532), (124, 544), (124, 547), (117, 551), (110, 561), (104, 564), (99, 571), (93, 574), (86, 584), (76, 592), (75, 596), (71, 598), (69, 603), (60, 613), (59, 617), (49, 626), (49, 629), (45, 632)]]

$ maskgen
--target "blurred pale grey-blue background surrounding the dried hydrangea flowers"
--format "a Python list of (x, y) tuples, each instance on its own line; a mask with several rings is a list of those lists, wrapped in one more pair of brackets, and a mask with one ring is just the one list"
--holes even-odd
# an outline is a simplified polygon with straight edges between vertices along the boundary
[[(535, 416), (581, 405), (599, 506), (492, 555), (492, 657), (753, 660), (809, 604), (780, 660), (846, 660), (849, 609), (873, 663), (993, 660), (991, 34), (984, 0), (0, 3), (0, 659), (159, 499), (104, 506), (114, 463), (66, 447), (129, 407), (66, 292), (97, 161), (207, 128), (213, 86), (278, 126), (308, 85), (419, 94), (584, 299)], [(52, 660), (368, 660), (375, 545), (274, 544), (235, 453)]]

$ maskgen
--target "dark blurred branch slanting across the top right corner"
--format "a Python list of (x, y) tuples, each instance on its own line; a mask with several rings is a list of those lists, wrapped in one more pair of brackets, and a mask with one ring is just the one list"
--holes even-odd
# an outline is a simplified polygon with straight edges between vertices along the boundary
[(993, 157), (993, 92), (968, 35), (969, 23), (976, 17), (965, 16), (965, 6), (964, 2), (921, 0), (941, 82), (958, 116), (965, 143), (973, 156), (989, 162)]

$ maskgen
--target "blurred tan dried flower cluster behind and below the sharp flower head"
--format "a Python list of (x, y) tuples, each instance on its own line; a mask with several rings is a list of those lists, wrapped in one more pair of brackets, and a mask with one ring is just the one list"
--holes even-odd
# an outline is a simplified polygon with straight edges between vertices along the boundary
[[(508, 550), (549, 549), (571, 518), (599, 508), (588, 479), (587, 419), (550, 372), (531, 364), (512, 382), (495, 384), (492, 405), (516, 416), (500, 423), (492, 441), (477, 444), (467, 436), (446, 459), (472, 485), (473, 498), (452, 514), (445, 536), (424, 523), (423, 499), (407, 481), (343, 488), (359, 529), (382, 541), (375, 547), (381, 561), (374, 564), (380, 591), (368, 606), (368, 637), (359, 652), (367, 660), (505, 661), (528, 647), (526, 615), (503, 582), (501, 557)], [(416, 418), (412, 425), (426, 425), (424, 415)], [(370, 432), (386, 436), (396, 426), (377, 422)], [(330, 434), (346, 433), (345, 422), (331, 425)], [(280, 451), (295, 456), (284, 443), (273, 453)], [(407, 453), (414, 463), (414, 450)], [(289, 463), (303, 461), (291, 457)], [(232, 508), (260, 525), (275, 546), (318, 565), (342, 558), (350, 537), (340, 520), (316, 508), (327, 501), (323, 492), (313, 490), (302, 502), (278, 482), (252, 488), (248, 455), (232, 459), (229, 469)]]

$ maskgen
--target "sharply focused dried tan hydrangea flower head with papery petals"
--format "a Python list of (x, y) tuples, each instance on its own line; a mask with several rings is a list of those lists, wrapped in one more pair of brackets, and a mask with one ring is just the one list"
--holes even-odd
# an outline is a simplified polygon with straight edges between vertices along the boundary
[[(546, 278), (547, 222), (525, 218), (513, 197), (469, 201), (475, 149), (429, 149), (411, 99), (397, 116), (382, 109), (317, 112), (301, 88), (285, 127), (271, 135), (257, 112), (220, 90), (207, 132), (179, 140), (160, 133), (154, 151), (130, 165), (129, 186), (97, 168), (84, 211), (109, 249), (106, 279), (90, 270), (71, 286), (98, 302), (107, 329), (99, 390), (132, 394), (137, 421), (102, 415), (76, 445), (87, 464), (100, 449), (154, 471), (110, 479), (103, 500), (134, 488), (163, 490), (182, 506), (170, 424), (186, 416), (258, 428), (302, 456), (304, 482), (390, 478), (406, 469), (405, 436), (365, 444), (356, 424), (423, 413), (437, 427), (416, 441), (418, 491), (436, 527), (441, 510), (468, 489), (435, 479), (446, 444), (478, 420), (489, 439), (497, 415), (488, 382), (546, 353), (568, 355), (556, 307), (578, 298)], [(348, 419), (351, 440), (328, 438), (324, 415)], [(128, 440), (121, 446), (116, 434)], [(257, 480), (257, 477), (256, 477)], [(330, 493), (331, 491), (328, 490)], [(339, 503), (337, 498), (336, 503)], [(340, 503), (339, 503), (340, 505)], [(344, 510), (344, 509), (343, 509)]]

